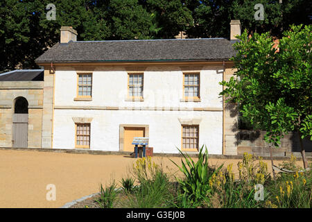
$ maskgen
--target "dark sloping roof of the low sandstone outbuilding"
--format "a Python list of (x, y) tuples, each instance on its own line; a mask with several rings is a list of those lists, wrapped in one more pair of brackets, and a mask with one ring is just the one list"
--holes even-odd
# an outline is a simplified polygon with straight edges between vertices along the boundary
[(44, 69), (17, 69), (0, 74), (0, 81), (43, 81)]

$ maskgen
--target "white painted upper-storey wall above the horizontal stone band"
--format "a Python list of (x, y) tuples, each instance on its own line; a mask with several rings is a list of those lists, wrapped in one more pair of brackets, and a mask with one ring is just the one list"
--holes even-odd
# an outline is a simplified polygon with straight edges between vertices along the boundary
[[(144, 71), (143, 107), (211, 107), (222, 108), (219, 92), (222, 67), (203, 67), (200, 71), (201, 102), (180, 102), (183, 97), (183, 73), (180, 67), (148, 67)], [(73, 101), (77, 96), (76, 71), (55, 72), (55, 105), (133, 106), (127, 99), (128, 74), (123, 67), (106, 67), (93, 71), (92, 101)]]

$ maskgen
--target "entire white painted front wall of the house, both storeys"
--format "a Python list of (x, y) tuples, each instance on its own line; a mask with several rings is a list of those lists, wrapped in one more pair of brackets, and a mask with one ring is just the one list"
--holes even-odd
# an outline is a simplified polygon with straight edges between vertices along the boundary
[[(125, 101), (128, 74), (123, 67), (106, 67), (93, 71), (92, 101), (73, 101), (76, 95), (76, 71), (55, 72), (55, 107), (172, 107), (222, 108), (219, 92), (222, 67), (203, 67), (200, 71), (200, 102), (180, 102), (183, 73), (180, 67), (148, 67), (144, 71), (144, 101)], [(211, 154), (222, 154), (222, 111), (161, 111), (161, 110), (54, 110), (53, 148), (75, 147), (75, 123), (72, 117), (92, 117), (92, 150), (119, 151), (119, 125), (149, 126), (149, 146), (155, 153), (177, 153), (181, 147), (181, 123), (178, 118), (200, 121), (199, 144), (207, 145)]]

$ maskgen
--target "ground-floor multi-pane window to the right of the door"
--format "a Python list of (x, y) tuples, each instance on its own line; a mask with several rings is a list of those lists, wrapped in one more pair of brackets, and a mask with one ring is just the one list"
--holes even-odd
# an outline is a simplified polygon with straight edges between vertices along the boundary
[(195, 125), (182, 126), (182, 149), (184, 151), (198, 150), (199, 127)]

